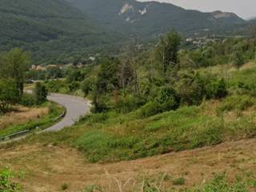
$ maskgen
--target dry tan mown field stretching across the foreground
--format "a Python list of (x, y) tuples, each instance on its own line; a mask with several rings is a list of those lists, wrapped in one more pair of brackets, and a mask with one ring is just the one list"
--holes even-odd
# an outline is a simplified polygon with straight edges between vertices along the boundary
[(256, 139), (104, 165), (86, 162), (83, 154), (69, 147), (17, 146), (0, 150), (1, 166), (25, 172), (19, 182), (26, 192), (62, 191), (63, 183), (68, 185), (66, 191), (90, 185), (103, 186), (104, 191), (120, 191), (120, 186), (122, 191), (132, 191), (144, 179), (157, 181), (163, 174), (185, 178), (183, 186), (173, 186), (166, 179), (164, 189), (181, 188), (202, 185), (216, 173), (226, 172), (230, 181), (247, 172), (256, 176)]

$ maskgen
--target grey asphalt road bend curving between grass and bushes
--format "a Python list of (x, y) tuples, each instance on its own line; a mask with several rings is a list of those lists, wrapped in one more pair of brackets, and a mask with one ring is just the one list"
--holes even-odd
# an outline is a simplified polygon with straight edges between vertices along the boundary
[(42, 130), (42, 132), (62, 130), (66, 126), (72, 126), (82, 116), (90, 113), (90, 102), (84, 98), (71, 96), (67, 94), (49, 94), (47, 99), (51, 102), (57, 102), (66, 108), (66, 115), (60, 122), (54, 126)]

